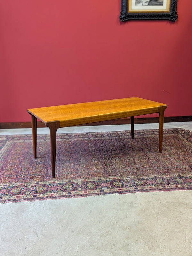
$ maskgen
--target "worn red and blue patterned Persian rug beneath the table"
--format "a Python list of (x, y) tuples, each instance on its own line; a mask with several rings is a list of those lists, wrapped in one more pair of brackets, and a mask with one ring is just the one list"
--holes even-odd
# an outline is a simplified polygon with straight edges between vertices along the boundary
[(192, 133), (158, 130), (58, 134), (56, 178), (50, 136), (0, 136), (0, 202), (192, 189)]

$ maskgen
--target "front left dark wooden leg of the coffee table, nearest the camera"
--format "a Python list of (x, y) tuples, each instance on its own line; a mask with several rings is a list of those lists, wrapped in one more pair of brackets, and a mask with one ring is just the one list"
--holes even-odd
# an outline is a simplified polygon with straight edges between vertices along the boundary
[(57, 129), (60, 128), (60, 121), (47, 122), (46, 126), (49, 127), (50, 131), (52, 177), (55, 178), (56, 133)]

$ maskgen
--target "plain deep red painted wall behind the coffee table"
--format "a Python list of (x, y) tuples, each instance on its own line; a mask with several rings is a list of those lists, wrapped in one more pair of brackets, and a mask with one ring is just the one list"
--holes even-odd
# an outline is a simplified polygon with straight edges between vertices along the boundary
[(120, 22), (120, 0), (0, 1), (0, 122), (27, 108), (138, 96), (192, 115), (192, 1), (178, 21)]

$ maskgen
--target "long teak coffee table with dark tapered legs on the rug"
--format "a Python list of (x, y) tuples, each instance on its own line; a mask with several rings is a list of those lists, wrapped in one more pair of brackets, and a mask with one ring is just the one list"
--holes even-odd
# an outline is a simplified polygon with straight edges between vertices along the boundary
[(166, 108), (167, 105), (163, 103), (132, 97), (28, 109), (27, 111), (31, 115), (34, 158), (36, 158), (37, 145), (37, 118), (50, 129), (53, 178), (55, 178), (56, 132), (61, 127), (131, 117), (131, 137), (133, 139), (134, 116), (159, 113), (159, 152), (162, 152), (164, 110)]

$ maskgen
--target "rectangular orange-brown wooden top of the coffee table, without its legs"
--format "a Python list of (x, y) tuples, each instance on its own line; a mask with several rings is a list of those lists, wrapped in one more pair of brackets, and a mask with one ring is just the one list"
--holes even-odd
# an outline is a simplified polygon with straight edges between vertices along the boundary
[(167, 105), (138, 97), (76, 103), (28, 109), (28, 113), (44, 122), (60, 121), (60, 127), (156, 113)]

